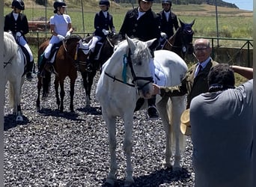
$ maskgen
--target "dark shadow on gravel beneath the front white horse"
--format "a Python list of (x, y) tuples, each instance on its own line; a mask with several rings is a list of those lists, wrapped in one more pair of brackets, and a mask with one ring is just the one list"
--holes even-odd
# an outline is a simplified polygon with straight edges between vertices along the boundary
[[(171, 185), (175, 181), (189, 180), (190, 174), (186, 168), (182, 168), (181, 171), (172, 171), (172, 169), (161, 169), (159, 171), (154, 171), (152, 174), (143, 175), (139, 177), (133, 177), (135, 187), (148, 186), (156, 187), (162, 185)], [(105, 183), (106, 179), (103, 180), (103, 185), (101, 187), (108, 187), (109, 184)], [(115, 186), (124, 186), (124, 180), (118, 180), (118, 183)], [(174, 185), (175, 186), (175, 185)]]

